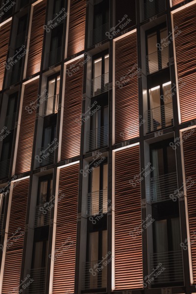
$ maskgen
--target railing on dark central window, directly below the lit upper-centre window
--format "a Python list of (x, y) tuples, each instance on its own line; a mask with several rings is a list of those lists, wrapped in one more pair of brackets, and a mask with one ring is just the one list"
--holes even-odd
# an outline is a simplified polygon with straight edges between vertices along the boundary
[(108, 145), (108, 125), (88, 131), (86, 137), (87, 152), (106, 147)]

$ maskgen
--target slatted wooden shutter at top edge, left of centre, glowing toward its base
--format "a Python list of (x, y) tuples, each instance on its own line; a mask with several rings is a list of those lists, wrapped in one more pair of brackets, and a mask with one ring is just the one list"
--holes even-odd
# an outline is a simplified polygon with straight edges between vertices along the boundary
[(70, 0), (68, 57), (84, 50), (86, 0)]

